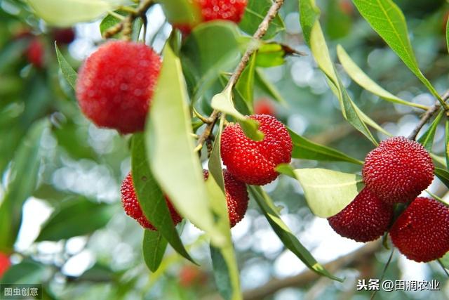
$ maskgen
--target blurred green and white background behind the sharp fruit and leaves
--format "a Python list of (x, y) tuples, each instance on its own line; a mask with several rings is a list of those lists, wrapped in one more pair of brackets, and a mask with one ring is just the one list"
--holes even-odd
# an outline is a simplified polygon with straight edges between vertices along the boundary
[[(395, 2), (406, 15), (421, 70), (443, 93), (449, 89), (444, 37), (449, 4), (444, 0)], [(370, 29), (351, 1), (317, 3), (333, 57), (335, 46), (342, 44), (380, 86), (405, 100), (434, 104), (434, 97)], [(344, 122), (337, 99), (304, 43), (297, 6), (297, 1), (286, 1), (281, 10), (286, 30), (275, 39), (307, 56), (288, 57), (285, 65), (263, 69), (287, 104), (276, 103), (257, 89), (256, 103), (268, 105), (266, 109), (296, 133), (363, 159), (373, 146)], [(148, 19), (147, 41), (161, 51), (171, 27), (157, 5), (149, 11)], [(79, 67), (102, 42), (99, 25), (100, 21), (76, 25), (72, 28), (73, 41), (58, 41), (72, 66)], [(147, 270), (142, 259), (142, 228), (123, 213), (119, 198), (121, 180), (130, 169), (128, 138), (113, 130), (99, 129), (81, 115), (56, 60), (53, 42), (58, 39), (58, 32), (36, 19), (22, 1), (0, 1), (0, 199), (14, 180), (11, 161), (28, 129), (42, 117), (51, 120), (51, 128), (46, 129), (40, 143), (36, 190), (22, 207), (20, 233), (4, 282), (40, 282), (45, 289), (44, 299), (220, 299), (206, 238), (188, 222), (184, 224), (182, 240), (201, 267), (183, 260), (168, 247), (161, 269), (156, 273)], [(419, 110), (387, 103), (363, 91), (337, 67), (351, 98), (364, 112), (394, 135), (408, 136), (419, 121)], [(434, 152), (443, 151), (444, 130), (438, 128)], [(297, 160), (294, 164), (361, 171), (360, 167), (345, 163)], [(23, 180), (26, 185), (26, 176)], [(276, 205), (283, 207), (283, 221), (315, 258), (320, 263), (333, 263), (336, 275), (346, 280), (339, 283), (307, 277), (307, 268), (283, 247), (251, 201), (245, 219), (232, 229), (246, 299), (369, 299), (370, 292), (356, 291), (356, 280), (380, 278), (389, 251), (379, 244), (361, 250), (363, 244), (334, 233), (326, 219), (311, 214), (300, 185), (286, 176), (264, 189)], [(437, 179), (431, 190), (441, 196), (446, 192)], [(82, 204), (74, 208), (74, 203)], [(55, 211), (65, 214), (50, 224), (51, 229), (42, 236), (41, 228), (45, 228)], [(79, 228), (91, 233), (76, 236)], [(67, 236), (54, 240), (61, 232)], [(441, 291), (379, 292), (377, 299), (449, 297), (447, 277), (437, 263), (415, 263), (396, 253), (385, 278), (436, 279), (441, 282)], [(261, 287), (272, 289), (260, 294), (264, 291)]]

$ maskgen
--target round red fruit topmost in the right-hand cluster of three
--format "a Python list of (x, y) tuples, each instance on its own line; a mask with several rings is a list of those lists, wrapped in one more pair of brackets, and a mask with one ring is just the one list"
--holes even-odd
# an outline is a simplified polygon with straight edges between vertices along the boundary
[(381, 200), (410, 202), (434, 179), (434, 164), (420, 143), (398, 136), (368, 153), (362, 175), (366, 186)]

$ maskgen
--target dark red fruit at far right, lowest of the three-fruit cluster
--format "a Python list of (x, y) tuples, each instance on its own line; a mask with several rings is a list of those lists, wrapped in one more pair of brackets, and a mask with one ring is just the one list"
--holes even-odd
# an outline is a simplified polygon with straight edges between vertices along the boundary
[(449, 251), (449, 208), (426, 197), (417, 197), (390, 230), (391, 241), (408, 259), (439, 259)]

